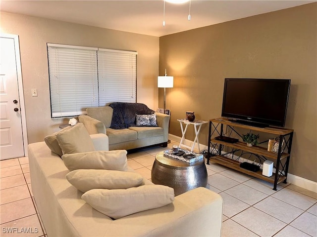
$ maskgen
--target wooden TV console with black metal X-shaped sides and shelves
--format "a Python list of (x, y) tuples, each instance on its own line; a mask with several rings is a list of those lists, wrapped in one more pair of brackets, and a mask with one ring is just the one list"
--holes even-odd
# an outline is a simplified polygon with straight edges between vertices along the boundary
[[(260, 142), (260, 146), (248, 147), (245, 142), (236, 142), (229, 143), (225, 141), (219, 141), (214, 139), (215, 136), (224, 136), (223, 125), (227, 126), (227, 129), (230, 129), (230, 134), (239, 136), (242, 139), (241, 131), (238, 129), (248, 129), (257, 132), (267, 133), (269, 135), (274, 135), (271, 137), (279, 137), (279, 146), (278, 152), (267, 151), (268, 140)], [(219, 128), (220, 126), (220, 128)], [(244, 130), (245, 131), (245, 130)], [(245, 131), (247, 133), (249, 131)], [(245, 174), (257, 177), (259, 179), (273, 183), (273, 190), (277, 190), (277, 184), (284, 182), (286, 184), (288, 165), (290, 160), (290, 153), (292, 148), (292, 139), (293, 139), (293, 129), (288, 128), (279, 128), (279, 127), (255, 127), (250, 125), (244, 125), (229, 121), (228, 118), (213, 118), (209, 121), (209, 138), (208, 138), (208, 156), (207, 164), (209, 164), (210, 159), (213, 162), (224, 165), (226, 167), (238, 170)], [(226, 149), (224, 149), (226, 148)], [(211, 151), (212, 149), (212, 151)], [(238, 158), (235, 154), (240, 154)], [(246, 159), (243, 155), (247, 154), (248, 156), (254, 156), (259, 160), (259, 163), (263, 163), (267, 158), (274, 162), (275, 173), (271, 177), (262, 175), (262, 170), (260, 169), (257, 172), (250, 171), (245, 168), (240, 167), (240, 158)], [(230, 158), (231, 157), (231, 158)]]

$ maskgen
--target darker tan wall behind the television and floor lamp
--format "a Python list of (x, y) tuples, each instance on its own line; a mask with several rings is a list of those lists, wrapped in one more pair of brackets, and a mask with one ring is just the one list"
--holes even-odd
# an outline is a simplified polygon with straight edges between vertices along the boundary
[[(293, 128), (291, 174), (317, 181), (317, 3), (266, 13), (159, 39), (159, 74), (166, 89), (171, 134), (177, 118), (221, 116), (224, 78), (291, 79), (285, 127)], [(159, 90), (159, 105), (163, 103)], [(193, 140), (193, 129), (188, 139)], [(200, 142), (208, 143), (208, 125)]]

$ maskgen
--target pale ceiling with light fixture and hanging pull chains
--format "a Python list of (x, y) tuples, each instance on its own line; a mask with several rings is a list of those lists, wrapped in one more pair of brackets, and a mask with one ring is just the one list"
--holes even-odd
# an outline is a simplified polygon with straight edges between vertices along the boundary
[(0, 10), (150, 36), (165, 36), (316, 0), (1, 0)]

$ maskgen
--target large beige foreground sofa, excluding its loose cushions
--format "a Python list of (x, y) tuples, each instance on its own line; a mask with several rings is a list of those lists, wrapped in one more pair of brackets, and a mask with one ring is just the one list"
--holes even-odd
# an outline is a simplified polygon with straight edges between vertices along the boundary
[[(96, 150), (107, 150), (106, 135), (91, 137)], [(112, 220), (81, 199), (83, 193), (65, 178), (69, 170), (63, 160), (44, 142), (29, 144), (28, 152), (32, 192), (49, 237), (221, 234), (222, 198), (206, 188), (179, 195), (166, 206)]]

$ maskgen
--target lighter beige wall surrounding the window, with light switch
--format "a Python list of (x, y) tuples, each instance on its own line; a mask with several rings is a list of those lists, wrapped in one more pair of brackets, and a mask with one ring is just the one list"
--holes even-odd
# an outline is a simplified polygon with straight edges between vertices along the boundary
[[(43, 141), (68, 119), (52, 119), (46, 43), (133, 50), (137, 102), (158, 107), (159, 38), (1, 12), (1, 32), (19, 36), (28, 142)], [(38, 97), (31, 97), (31, 89)]]

